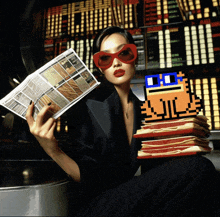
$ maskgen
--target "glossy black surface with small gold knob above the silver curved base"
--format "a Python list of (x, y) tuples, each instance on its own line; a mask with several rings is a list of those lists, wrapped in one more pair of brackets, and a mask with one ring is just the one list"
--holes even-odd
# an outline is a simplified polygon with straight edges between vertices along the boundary
[(53, 161), (0, 161), (0, 188), (42, 185), (65, 179), (67, 179), (67, 175)]

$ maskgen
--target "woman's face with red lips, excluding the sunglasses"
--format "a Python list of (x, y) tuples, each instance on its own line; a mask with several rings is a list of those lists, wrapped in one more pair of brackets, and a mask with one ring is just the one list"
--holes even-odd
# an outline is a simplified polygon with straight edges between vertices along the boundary
[[(106, 36), (100, 47), (100, 51), (105, 51), (108, 53), (116, 53), (121, 50), (125, 44), (129, 44), (124, 36), (119, 33), (114, 33), (110, 36)], [(121, 62), (119, 59), (115, 58), (112, 65), (107, 69), (100, 69), (106, 79), (112, 84), (118, 86), (126, 83), (130, 83), (130, 80), (135, 74), (135, 61), (127, 64)]]

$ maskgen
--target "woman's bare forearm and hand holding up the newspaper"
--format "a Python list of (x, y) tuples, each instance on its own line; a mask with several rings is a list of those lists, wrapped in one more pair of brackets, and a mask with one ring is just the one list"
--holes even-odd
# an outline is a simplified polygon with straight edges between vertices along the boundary
[(74, 181), (80, 182), (80, 170), (78, 164), (67, 156), (58, 146), (54, 136), (56, 127), (55, 119), (48, 117), (50, 106), (44, 106), (37, 115), (36, 121), (32, 116), (34, 103), (28, 107), (26, 113), (27, 123), (30, 132), (35, 136), (44, 151), (68, 174)]

